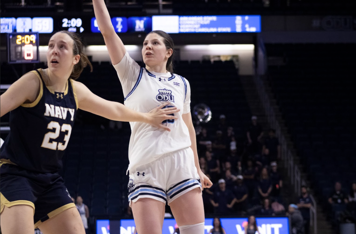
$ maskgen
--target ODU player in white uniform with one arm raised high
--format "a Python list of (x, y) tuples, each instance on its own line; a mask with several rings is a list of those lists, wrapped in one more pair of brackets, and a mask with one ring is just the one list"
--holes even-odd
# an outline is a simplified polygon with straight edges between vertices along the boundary
[(137, 233), (160, 234), (165, 203), (171, 206), (182, 234), (204, 233), (201, 189), (212, 183), (201, 172), (190, 114), (188, 81), (172, 72), (173, 41), (163, 31), (149, 33), (142, 48), (145, 68), (126, 52), (111, 24), (104, 0), (93, 0), (100, 32), (119, 76), (125, 105), (147, 112), (169, 101), (181, 111), (178, 120), (164, 121), (171, 132), (148, 124), (131, 124), (129, 200)]

